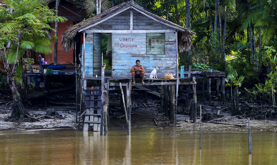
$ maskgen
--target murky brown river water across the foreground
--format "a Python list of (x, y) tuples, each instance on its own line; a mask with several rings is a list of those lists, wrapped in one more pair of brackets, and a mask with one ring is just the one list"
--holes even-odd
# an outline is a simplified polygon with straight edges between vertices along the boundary
[[(181, 134), (169, 136), (168, 134)], [(0, 132), (0, 164), (277, 164), (276, 132), (248, 134), (168, 129), (109, 129), (108, 136), (73, 129)]]

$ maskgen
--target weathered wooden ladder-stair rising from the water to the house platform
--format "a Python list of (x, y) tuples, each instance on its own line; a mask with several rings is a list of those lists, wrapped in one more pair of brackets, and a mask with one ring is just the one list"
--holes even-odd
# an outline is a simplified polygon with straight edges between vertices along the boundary
[(88, 126), (93, 126), (93, 131), (100, 132), (101, 124), (101, 89), (99, 87), (87, 88), (84, 94), (86, 98), (86, 110), (84, 113), (83, 131), (88, 131)]

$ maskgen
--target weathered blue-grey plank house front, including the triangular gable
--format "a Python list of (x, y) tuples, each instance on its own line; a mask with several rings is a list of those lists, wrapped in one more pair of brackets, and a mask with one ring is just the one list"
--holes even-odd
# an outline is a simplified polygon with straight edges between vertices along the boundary
[[(152, 18), (133, 10), (133, 30), (169, 29), (174, 28), (159, 23)], [(130, 30), (130, 10), (121, 12), (116, 16), (89, 28), (86, 30), (86, 33), (93, 33), (93, 30)], [(153, 50), (150, 54), (146, 54), (146, 37), (146, 33), (112, 33), (112, 76), (131, 76), (130, 70), (135, 65), (136, 60), (140, 60), (141, 65), (143, 65), (146, 71), (146, 76), (150, 75), (155, 66), (158, 66), (159, 68), (157, 76), (164, 76), (168, 73), (176, 76), (175, 33), (165, 33), (165, 49), (163, 49), (163, 54), (161, 54), (161, 52), (157, 52), (157, 54), (153, 52), (157, 50)], [(96, 46), (94, 47), (96, 48)], [(96, 51), (93, 52), (96, 53)], [(96, 56), (94, 55), (93, 57)], [(96, 62), (96, 60), (94, 62)], [(93, 66), (93, 68), (95, 67)]]

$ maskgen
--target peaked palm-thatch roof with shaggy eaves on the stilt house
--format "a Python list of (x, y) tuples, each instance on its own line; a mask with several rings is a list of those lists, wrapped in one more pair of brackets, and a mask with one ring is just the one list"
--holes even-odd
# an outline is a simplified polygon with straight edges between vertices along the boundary
[(98, 14), (92, 18), (88, 18), (85, 21), (79, 22), (76, 25), (68, 28), (68, 30), (66, 30), (63, 33), (63, 35), (61, 36), (61, 45), (63, 46), (63, 50), (68, 51), (70, 49), (71, 45), (74, 42), (74, 38), (78, 32), (86, 30), (86, 29), (96, 25), (97, 23), (102, 22), (105, 19), (114, 16), (119, 11), (123, 11), (123, 10), (129, 9), (129, 8), (135, 9), (135, 10), (143, 13), (144, 15), (152, 18), (153, 20), (156, 20), (160, 23), (163, 23), (167, 26), (170, 26), (170, 27), (178, 30), (179, 34), (181, 34), (181, 35), (178, 34), (178, 52), (183, 52), (185, 50), (189, 50), (189, 47), (192, 44), (192, 41), (191, 41), (192, 36), (195, 34), (193, 31), (191, 31), (190, 29), (184, 28), (182, 26), (179, 26), (175, 23), (172, 23), (172, 22), (150, 12), (149, 10), (136, 4), (134, 1), (124, 2), (122, 4), (114, 6), (111, 9), (102, 12), (101, 14)]

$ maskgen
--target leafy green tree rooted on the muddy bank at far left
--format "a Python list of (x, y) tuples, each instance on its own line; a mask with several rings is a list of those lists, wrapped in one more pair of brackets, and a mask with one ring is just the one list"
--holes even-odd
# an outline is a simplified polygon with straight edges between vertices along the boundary
[(13, 111), (10, 119), (24, 120), (30, 117), (25, 111), (16, 83), (22, 81), (13, 75), (20, 61), (33, 63), (30, 58), (21, 57), (28, 49), (39, 53), (53, 52), (50, 23), (65, 22), (63, 17), (55, 16), (44, 0), (4, 0), (11, 12), (0, 8), (0, 55), (7, 71), (7, 84), (13, 96)]

